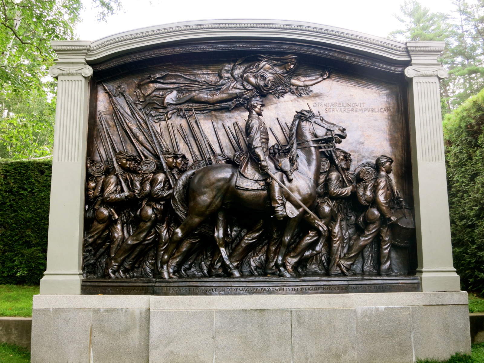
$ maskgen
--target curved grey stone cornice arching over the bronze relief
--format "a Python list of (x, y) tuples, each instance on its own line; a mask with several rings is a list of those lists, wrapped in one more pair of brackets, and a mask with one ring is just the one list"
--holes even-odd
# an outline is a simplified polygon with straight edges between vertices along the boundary
[(405, 43), (365, 33), (314, 23), (286, 20), (202, 20), (130, 30), (87, 42), (54, 41), (60, 58), (63, 52), (86, 51), (88, 63), (98, 63), (121, 54), (174, 42), (197, 39), (286, 39), (350, 49), (354, 53), (405, 63), (410, 56)]

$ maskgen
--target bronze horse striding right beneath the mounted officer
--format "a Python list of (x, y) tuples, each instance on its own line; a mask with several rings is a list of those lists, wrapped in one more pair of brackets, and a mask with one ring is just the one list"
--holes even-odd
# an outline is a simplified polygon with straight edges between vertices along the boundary
[[(312, 110), (296, 111), (290, 127), (288, 159), (291, 165), (292, 181), (282, 173), (279, 180), (309, 210), (316, 206), (317, 181), (320, 171), (319, 147), (322, 144), (341, 143), (346, 138), (346, 129), (317, 116)], [(277, 170), (271, 170), (272, 173)], [(175, 248), (195, 228), (209, 216), (216, 214), (215, 241), (217, 242), (224, 264), (233, 277), (240, 277), (241, 272), (231, 262), (225, 246), (227, 221), (223, 207), (265, 211), (268, 206), (267, 190), (242, 190), (236, 187), (238, 167), (231, 164), (214, 164), (204, 166), (194, 173), (188, 185), (188, 211), (180, 227), (173, 230), (172, 236), (160, 260), (159, 273), (162, 278), (174, 277), (168, 269), (168, 262)], [(276, 259), (279, 276), (290, 277), (284, 267), (284, 255), (293, 238), (297, 225), (305, 220), (316, 227), (320, 233), (327, 233), (327, 227), (315, 220), (289, 195), (283, 195), (293, 206), (300, 207), (298, 214), (288, 219), (282, 236)], [(269, 203), (270, 205), (270, 203)]]

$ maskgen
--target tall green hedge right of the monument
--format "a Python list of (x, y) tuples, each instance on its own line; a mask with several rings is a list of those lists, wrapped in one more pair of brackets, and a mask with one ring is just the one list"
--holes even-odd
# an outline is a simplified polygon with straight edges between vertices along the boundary
[(444, 119), (454, 267), (465, 290), (484, 292), (484, 91)]

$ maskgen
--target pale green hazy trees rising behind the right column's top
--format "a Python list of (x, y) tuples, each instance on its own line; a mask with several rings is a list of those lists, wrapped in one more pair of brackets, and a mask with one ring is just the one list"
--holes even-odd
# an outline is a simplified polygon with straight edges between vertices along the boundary
[(450, 15), (405, 1), (395, 15), (404, 28), (389, 34), (401, 41), (446, 42), (439, 60), (449, 71), (440, 82), (443, 114), (484, 88), (484, 0), (471, 1), (454, 0)]

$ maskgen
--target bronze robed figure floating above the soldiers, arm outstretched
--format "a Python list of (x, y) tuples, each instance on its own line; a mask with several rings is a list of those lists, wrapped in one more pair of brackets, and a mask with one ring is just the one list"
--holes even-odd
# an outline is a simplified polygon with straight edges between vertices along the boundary
[(180, 108), (206, 112), (242, 106), (257, 95), (279, 98), (288, 92), (310, 94), (309, 87), (330, 76), (330, 70), (325, 70), (316, 78), (301, 80), (294, 76), (298, 65), (299, 59), (293, 54), (248, 56), (225, 65), (218, 74), (149, 76), (137, 85), (135, 94), (143, 109), (159, 120)]

